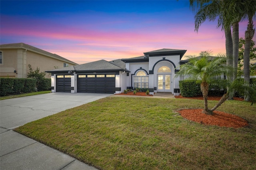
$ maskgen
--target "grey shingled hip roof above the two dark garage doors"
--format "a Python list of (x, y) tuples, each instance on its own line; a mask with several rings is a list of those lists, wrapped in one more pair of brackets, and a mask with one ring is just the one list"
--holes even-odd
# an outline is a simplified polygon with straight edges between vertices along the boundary
[(54, 73), (54, 72), (61, 72), (61, 71), (126, 71), (126, 72), (130, 72), (126, 70), (125, 63), (120, 59), (113, 60), (113, 61), (106, 61), (102, 59), (99, 61), (93, 61), (90, 63), (63, 67), (60, 69), (54, 69), (46, 72)]

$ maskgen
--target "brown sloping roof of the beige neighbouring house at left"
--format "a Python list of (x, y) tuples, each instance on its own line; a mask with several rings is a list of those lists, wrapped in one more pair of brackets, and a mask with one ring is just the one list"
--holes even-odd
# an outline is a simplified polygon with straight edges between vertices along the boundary
[(34, 53), (39, 53), (41, 55), (45, 55), (47, 57), (51, 57), (54, 59), (58, 59), (61, 61), (65, 61), (66, 63), (77, 65), (77, 63), (70, 61), (64, 57), (61, 57), (60, 55), (50, 53), (48, 51), (44, 51), (42, 49), (39, 49), (37, 47), (33, 47), (31, 45), (25, 44), (25, 43), (9, 43), (9, 44), (1, 44), (0, 49), (15, 49), (15, 48), (22, 48), (27, 49), (28, 51), (33, 51)]

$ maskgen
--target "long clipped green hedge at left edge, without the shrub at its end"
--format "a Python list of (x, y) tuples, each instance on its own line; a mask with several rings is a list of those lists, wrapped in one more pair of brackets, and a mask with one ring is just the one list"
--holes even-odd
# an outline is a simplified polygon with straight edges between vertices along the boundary
[(36, 79), (0, 78), (0, 96), (30, 93), (34, 91)]

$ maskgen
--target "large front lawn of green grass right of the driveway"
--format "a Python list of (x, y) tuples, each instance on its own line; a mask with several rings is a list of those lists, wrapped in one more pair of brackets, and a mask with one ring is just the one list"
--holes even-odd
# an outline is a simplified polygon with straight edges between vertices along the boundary
[[(216, 101), (209, 101), (209, 107)], [(104, 170), (256, 169), (256, 107), (226, 101), (218, 109), (246, 119), (244, 128), (183, 119), (202, 100), (107, 97), (15, 130)]]

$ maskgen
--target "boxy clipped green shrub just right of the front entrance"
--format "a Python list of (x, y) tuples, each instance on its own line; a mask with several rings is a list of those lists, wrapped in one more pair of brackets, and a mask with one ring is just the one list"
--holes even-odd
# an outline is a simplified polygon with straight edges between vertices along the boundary
[(194, 97), (202, 94), (200, 90), (200, 84), (195, 80), (181, 80), (179, 81), (180, 94), (183, 97)]

